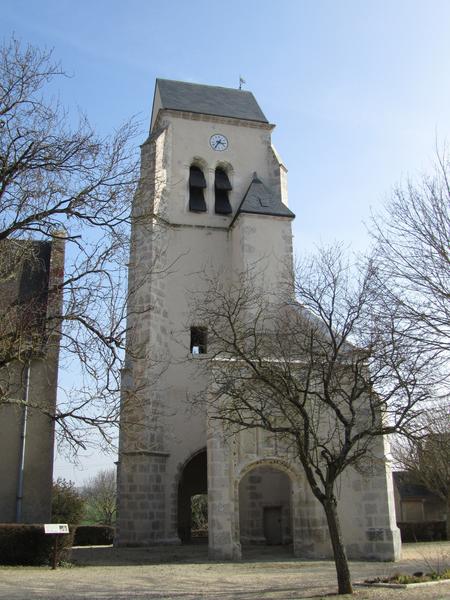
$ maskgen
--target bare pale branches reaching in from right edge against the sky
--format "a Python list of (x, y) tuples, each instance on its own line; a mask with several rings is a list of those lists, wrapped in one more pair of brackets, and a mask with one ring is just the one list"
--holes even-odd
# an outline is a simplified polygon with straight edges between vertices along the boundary
[(437, 153), (434, 172), (394, 190), (373, 219), (376, 260), (386, 293), (398, 305), (405, 334), (441, 354), (448, 374), (450, 350), (449, 161)]

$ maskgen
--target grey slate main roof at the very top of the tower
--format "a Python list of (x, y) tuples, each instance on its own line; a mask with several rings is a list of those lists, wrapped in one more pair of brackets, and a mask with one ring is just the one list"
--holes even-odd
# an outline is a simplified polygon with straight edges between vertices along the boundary
[(268, 123), (251, 92), (157, 79), (162, 108)]

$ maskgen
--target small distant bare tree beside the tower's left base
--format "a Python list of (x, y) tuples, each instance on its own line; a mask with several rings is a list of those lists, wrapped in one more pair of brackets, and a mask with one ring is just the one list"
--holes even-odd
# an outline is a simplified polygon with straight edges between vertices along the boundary
[(83, 486), (85, 518), (99, 525), (113, 526), (116, 521), (116, 471), (105, 469)]

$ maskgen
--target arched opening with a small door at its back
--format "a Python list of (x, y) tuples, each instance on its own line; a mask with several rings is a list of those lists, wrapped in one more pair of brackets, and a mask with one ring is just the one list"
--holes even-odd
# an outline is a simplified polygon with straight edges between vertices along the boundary
[(272, 465), (255, 466), (239, 482), (242, 546), (289, 545), (293, 541), (289, 475)]

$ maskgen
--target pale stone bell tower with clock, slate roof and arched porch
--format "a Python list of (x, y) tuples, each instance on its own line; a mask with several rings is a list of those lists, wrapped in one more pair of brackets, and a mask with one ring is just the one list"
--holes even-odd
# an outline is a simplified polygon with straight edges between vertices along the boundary
[[(241, 542), (264, 540), (330, 555), (325, 517), (292, 457), (254, 430), (231, 449), (188, 401), (208, 384), (197, 368), (207, 331), (190, 314), (204, 273), (232, 278), (258, 261), (264, 287), (276, 290), (280, 265), (292, 264), (294, 214), (273, 128), (248, 91), (156, 81), (133, 204), (118, 545), (189, 541), (191, 497), (207, 493), (212, 557), (238, 558)], [(381, 480), (379, 528), (390, 530), (386, 473)], [(345, 501), (362, 491), (355, 484)], [(343, 527), (352, 519), (349, 511)], [(355, 556), (364, 527), (352, 524)], [(371, 552), (393, 557), (389, 544)]]

